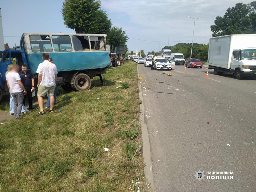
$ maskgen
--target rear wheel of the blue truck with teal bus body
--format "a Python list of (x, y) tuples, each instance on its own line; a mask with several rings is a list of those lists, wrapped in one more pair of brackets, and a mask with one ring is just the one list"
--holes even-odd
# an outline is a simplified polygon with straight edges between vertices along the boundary
[(87, 74), (84, 74), (84, 73), (77, 74), (74, 77), (73, 82), (74, 83), (71, 84), (71, 87), (77, 91), (85, 91), (87, 89), (90, 89), (91, 84), (92, 84), (91, 78)]

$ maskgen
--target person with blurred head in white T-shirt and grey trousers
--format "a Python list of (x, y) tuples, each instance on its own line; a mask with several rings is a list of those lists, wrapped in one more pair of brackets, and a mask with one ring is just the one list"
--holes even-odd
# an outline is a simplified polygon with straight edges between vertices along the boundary
[[(25, 87), (23, 86), (19, 76), (19, 66), (17, 64), (11, 64), (8, 67), (9, 71), (6, 73), (6, 83), (13, 96), (14, 101), (14, 116), (16, 119), (20, 118), (20, 113), (23, 107), (23, 98), (27, 94)], [(24, 91), (24, 95), (23, 95)]]

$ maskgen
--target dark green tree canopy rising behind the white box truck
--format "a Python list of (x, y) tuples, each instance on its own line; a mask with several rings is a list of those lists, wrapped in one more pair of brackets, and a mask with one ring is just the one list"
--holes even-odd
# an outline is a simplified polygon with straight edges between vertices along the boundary
[(210, 28), (212, 37), (232, 34), (256, 33), (256, 1), (248, 5), (237, 3), (235, 7), (228, 8), (223, 17), (217, 16)]

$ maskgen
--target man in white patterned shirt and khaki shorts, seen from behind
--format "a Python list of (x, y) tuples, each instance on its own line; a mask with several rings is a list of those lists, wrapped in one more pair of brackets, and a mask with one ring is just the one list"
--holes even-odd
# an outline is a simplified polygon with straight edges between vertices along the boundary
[(56, 65), (49, 61), (49, 54), (43, 53), (42, 59), (44, 62), (40, 63), (36, 70), (38, 73), (37, 99), (40, 107), (40, 112), (37, 115), (45, 114), (43, 97), (45, 97), (46, 93), (48, 93), (50, 96), (50, 112), (53, 112), (52, 108), (54, 105), (54, 91), (58, 73)]

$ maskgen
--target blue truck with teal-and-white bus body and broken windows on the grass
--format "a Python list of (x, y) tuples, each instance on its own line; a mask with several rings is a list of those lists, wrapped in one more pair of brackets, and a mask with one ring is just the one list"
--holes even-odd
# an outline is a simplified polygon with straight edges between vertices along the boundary
[(25, 64), (37, 81), (36, 70), (46, 52), (57, 67), (57, 85), (66, 91), (83, 91), (91, 87), (91, 79), (111, 66), (106, 49), (105, 34), (24, 33), (20, 40), (21, 50), (0, 51), (0, 101), (8, 91), (5, 72), (16, 62)]

